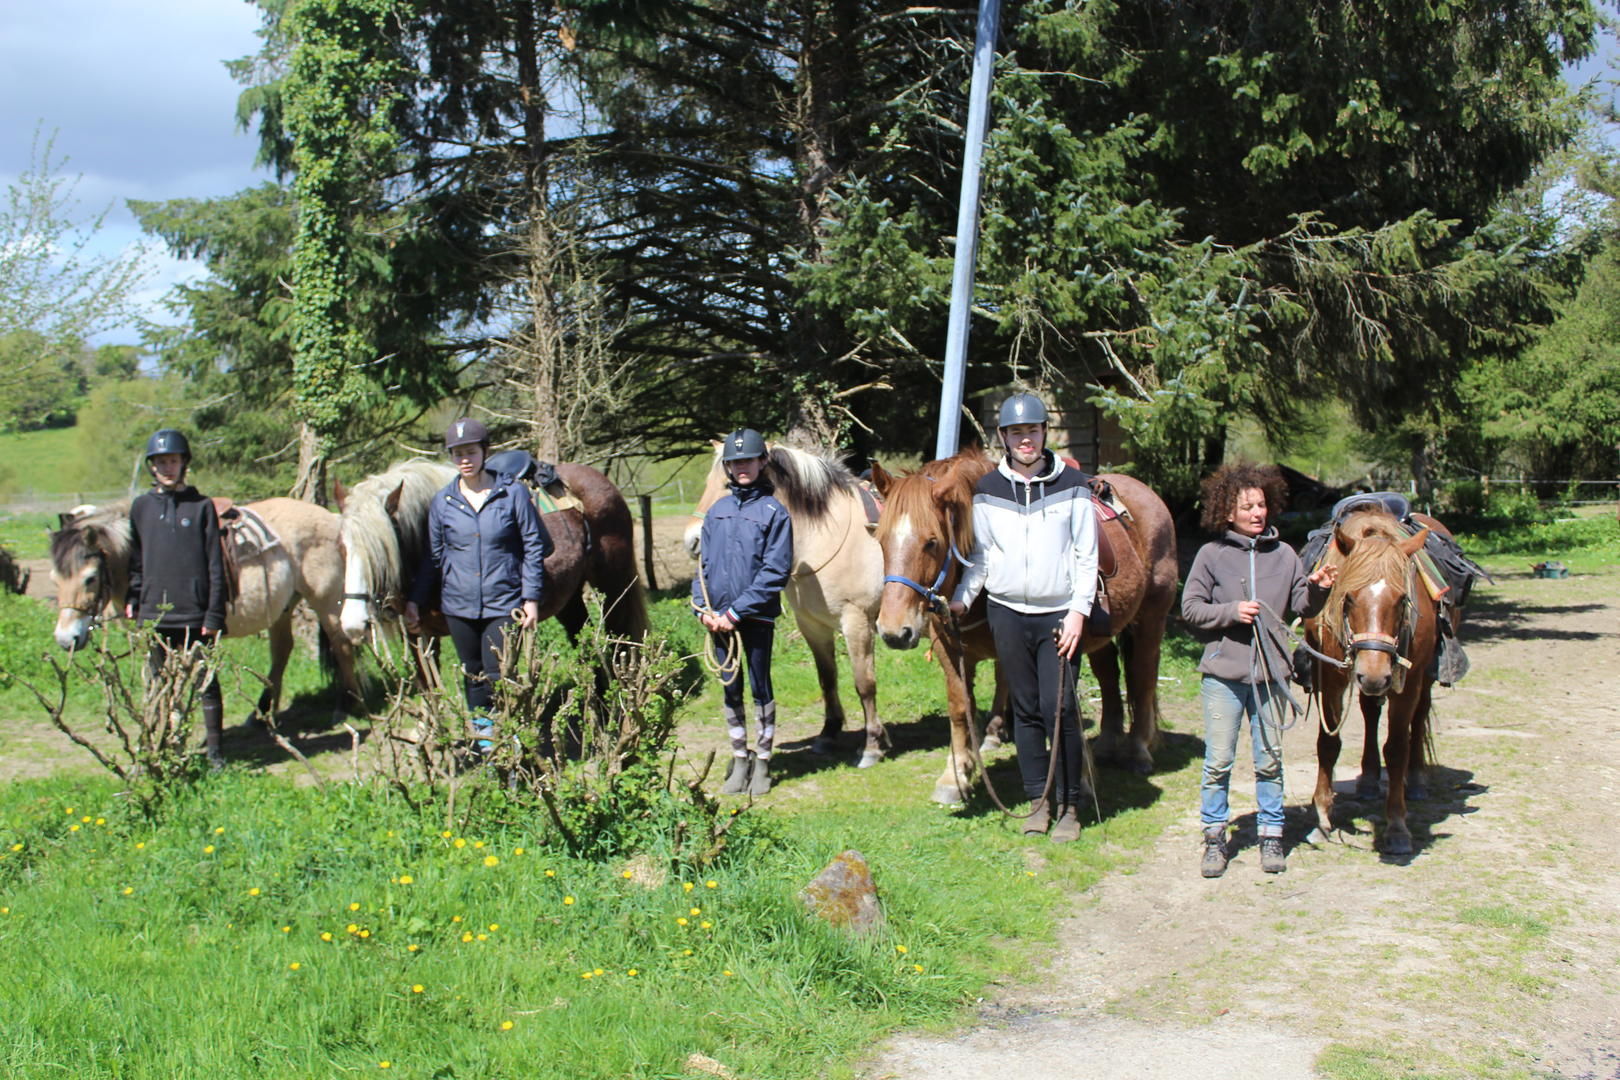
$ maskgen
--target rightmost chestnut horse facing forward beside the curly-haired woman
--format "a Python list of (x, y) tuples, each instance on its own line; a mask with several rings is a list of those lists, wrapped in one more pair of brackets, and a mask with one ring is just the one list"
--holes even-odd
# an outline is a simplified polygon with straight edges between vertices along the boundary
[(1421, 581), (1416, 554), (1430, 528), (1443, 531), (1443, 526), (1432, 518), (1421, 518), (1419, 525), (1424, 528), (1406, 536), (1395, 517), (1382, 510), (1359, 510), (1345, 518), (1327, 554), (1327, 562), (1338, 565), (1338, 580), (1322, 612), (1306, 620), (1307, 643), (1333, 661), (1315, 661), (1322, 704), (1312, 800), (1317, 826), (1324, 836), (1333, 829), (1333, 766), (1353, 691), (1361, 695), (1366, 721), (1358, 789), (1377, 792), (1379, 712), (1387, 701), (1383, 764), (1390, 784), (1383, 801), (1383, 850), (1390, 855), (1413, 850), (1406, 793), (1424, 767), (1432, 661), (1439, 644), (1439, 609)]

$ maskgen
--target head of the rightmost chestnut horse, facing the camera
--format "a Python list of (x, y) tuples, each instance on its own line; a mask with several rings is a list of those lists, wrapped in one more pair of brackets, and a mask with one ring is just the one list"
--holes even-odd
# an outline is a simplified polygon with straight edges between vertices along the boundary
[[(1388, 515), (1351, 515), (1333, 531), (1338, 580), (1320, 622), (1349, 659), (1361, 693), (1380, 698), (1405, 685), (1418, 638), (1416, 555), (1429, 529), (1401, 536)], [(1427, 662), (1422, 657), (1422, 662)]]

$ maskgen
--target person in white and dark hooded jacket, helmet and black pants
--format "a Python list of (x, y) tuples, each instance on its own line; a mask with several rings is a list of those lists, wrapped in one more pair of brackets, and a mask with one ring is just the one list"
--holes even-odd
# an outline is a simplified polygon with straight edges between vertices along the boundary
[(1097, 517), (1087, 478), (1047, 449), (1047, 406), (1034, 393), (1001, 405), (1006, 458), (974, 491), (974, 551), (951, 599), (964, 614), (988, 593), (990, 633), (1011, 691), (1013, 742), (1030, 801), (1042, 800), (1051, 764), (1051, 727), (1063, 698), (1056, 821), (1040, 801), (1024, 823), (1056, 842), (1081, 836), (1082, 743), (1077, 687), (1061, 661), (1079, 656), (1085, 614), (1097, 597)]

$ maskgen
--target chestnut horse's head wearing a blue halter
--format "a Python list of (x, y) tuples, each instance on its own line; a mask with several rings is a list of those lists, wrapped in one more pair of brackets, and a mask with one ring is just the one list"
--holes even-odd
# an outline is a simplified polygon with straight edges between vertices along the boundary
[(915, 648), (928, 615), (951, 599), (961, 557), (974, 544), (974, 484), (988, 466), (982, 455), (933, 461), (906, 476), (872, 465), (872, 483), (883, 495), (876, 531), (883, 547), (878, 635), (889, 648)]

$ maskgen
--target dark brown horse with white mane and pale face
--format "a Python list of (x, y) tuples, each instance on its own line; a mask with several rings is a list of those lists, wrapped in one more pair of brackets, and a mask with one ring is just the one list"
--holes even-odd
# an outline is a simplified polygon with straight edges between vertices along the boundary
[[(578, 500), (543, 513), (552, 552), (539, 617), (557, 617), (572, 638), (585, 625), (585, 585), (603, 602), (603, 622), (617, 636), (646, 633), (646, 594), (635, 570), (630, 507), (612, 481), (588, 465), (557, 465)], [(411, 578), (428, 554), (428, 505), (455, 470), (442, 461), (403, 461), (343, 489), (337, 486), (343, 538), (343, 633), (361, 640), (376, 623), (397, 627)], [(426, 625), (433, 625), (424, 620)]]

